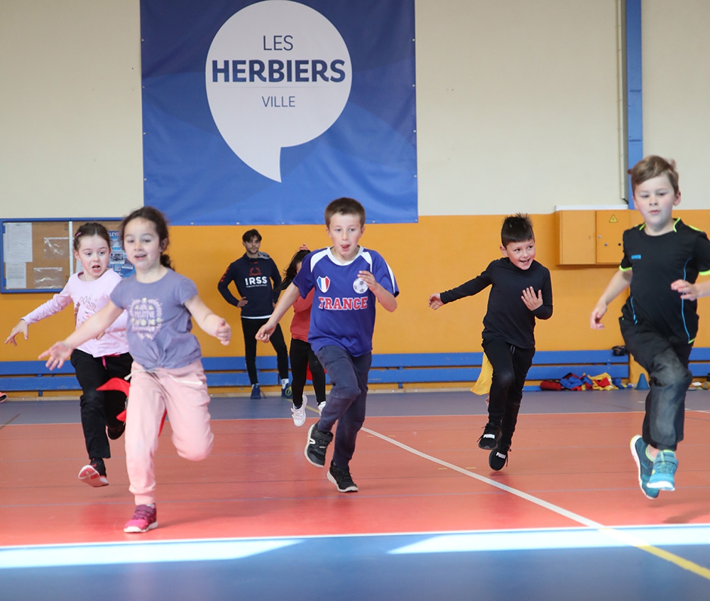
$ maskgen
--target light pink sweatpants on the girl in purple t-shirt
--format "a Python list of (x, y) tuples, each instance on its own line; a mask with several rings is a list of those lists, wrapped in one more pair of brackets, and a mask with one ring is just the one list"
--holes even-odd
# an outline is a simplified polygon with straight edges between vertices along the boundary
[(136, 505), (155, 502), (153, 457), (163, 413), (168, 411), (178, 455), (200, 461), (212, 451), (214, 440), (208, 404), (207, 380), (199, 360), (179, 369), (158, 367), (150, 372), (133, 362), (126, 411), (126, 468)]

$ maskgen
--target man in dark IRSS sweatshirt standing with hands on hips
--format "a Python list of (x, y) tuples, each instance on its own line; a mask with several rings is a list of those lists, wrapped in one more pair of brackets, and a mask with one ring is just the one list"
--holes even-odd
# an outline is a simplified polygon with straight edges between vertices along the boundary
[[(276, 264), (265, 252), (261, 252), (261, 234), (256, 229), (249, 229), (241, 237), (246, 252), (226, 268), (217, 284), (219, 293), (230, 305), (241, 309), (241, 330), (244, 333), (244, 361), (251, 383), (251, 398), (261, 399), (256, 373), (256, 339), (254, 335), (271, 316), (281, 287), (281, 274)], [(229, 290), (234, 282), (240, 298)], [(271, 283), (273, 282), (273, 286)], [(288, 384), (288, 350), (283, 340), (281, 328), (271, 336), (271, 345), (276, 352), (278, 377), (281, 381), (281, 396), (291, 398), (291, 386)]]

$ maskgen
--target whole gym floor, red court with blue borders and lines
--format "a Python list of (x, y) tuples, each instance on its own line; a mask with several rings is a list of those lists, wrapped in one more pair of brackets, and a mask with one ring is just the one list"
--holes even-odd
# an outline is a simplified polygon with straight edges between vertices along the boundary
[(477, 447), (481, 397), (372, 393), (342, 494), (303, 457), (290, 401), (212, 400), (212, 455), (155, 458), (157, 529), (133, 512), (123, 440), (110, 485), (78, 401), (0, 404), (0, 597), (14, 600), (710, 598), (710, 392), (687, 396), (676, 491), (646, 499), (629, 452), (643, 391), (530, 392), (509, 464)]

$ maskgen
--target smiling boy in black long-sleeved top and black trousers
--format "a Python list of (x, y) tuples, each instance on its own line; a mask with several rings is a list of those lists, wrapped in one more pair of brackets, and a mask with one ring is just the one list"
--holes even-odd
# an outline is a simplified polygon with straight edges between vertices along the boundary
[(491, 286), (484, 316), (483, 347), (493, 366), (488, 423), (479, 447), (491, 450), (488, 465), (502, 470), (518, 422), (520, 400), (535, 355), (535, 318), (552, 316), (550, 271), (535, 261), (535, 234), (528, 215), (506, 217), (501, 230), (503, 259), (491, 261), (480, 276), (452, 290), (432, 294), (430, 308)]

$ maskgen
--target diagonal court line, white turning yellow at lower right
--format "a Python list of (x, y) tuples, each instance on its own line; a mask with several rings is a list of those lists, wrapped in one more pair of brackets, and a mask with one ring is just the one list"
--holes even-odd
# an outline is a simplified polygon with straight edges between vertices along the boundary
[(521, 499), (525, 499), (526, 501), (530, 501), (531, 503), (534, 503), (535, 505), (538, 505), (540, 507), (544, 507), (545, 509), (553, 511), (554, 513), (556, 513), (558, 515), (567, 517), (568, 519), (571, 519), (572, 521), (576, 521), (578, 524), (581, 524), (582, 526), (587, 526), (589, 528), (595, 529), (600, 534), (603, 534), (604, 536), (608, 536), (609, 538), (612, 538), (614, 541), (624, 543), (629, 546), (633, 546), (635, 548), (638, 548), (641, 551), (645, 551), (647, 553), (650, 553), (653, 556), (664, 559), (665, 561), (669, 561), (670, 563), (677, 565), (679, 568), (682, 568), (684, 570), (689, 570), (690, 572), (699, 575), (701, 578), (705, 578), (706, 580), (710, 580), (710, 570), (708, 568), (704, 568), (703, 566), (698, 565), (697, 563), (693, 563), (692, 561), (688, 561), (687, 559), (684, 559), (680, 556), (674, 555), (673, 553), (668, 553), (667, 551), (664, 551), (661, 548), (657, 548), (655, 546), (652, 546), (647, 541), (644, 541), (642, 538), (638, 538), (637, 536), (631, 534), (628, 531), (621, 531), (618, 529), (611, 528), (609, 526), (604, 526), (603, 524), (599, 524), (598, 522), (596, 522), (594, 520), (588, 519), (588, 518), (581, 516), (579, 514), (575, 514), (574, 511), (568, 511), (567, 509), (564, 509), (563, 507), (559, 507), (558, 505), (548, 503), (547, 501), (543, 501), (542, 499), (538, 499), (537, 497), (533, 497), (532, 494), (528, 494), (527, 492), (523, 492), (522, 490), (518, 490), (513, 487), (506, 486), (506, 484), (501, 484), (500, 482), (496, 482), (495, 480), (491, 480), (490, 478), (486, 478), (484, 476), (476, 474), (475, 472), (471, 472), (470, 470), (466, 470), (463, 467), (459, 467), (458, 465), (454, 465), (453, 463), (449, 463), (447, 461), (441, 460), (438, 457), (432, 457), (432, 455), (427, 455), (427, 453), (422, 453), (422, 451), (420, 451), (420, 450), (417, 450), (413, 447), (405, 445), (404, 443), (400, 443), (398, 440), (394, 440), (393, 438), (390, 438), (386, 435), (383, 435), (383, 434), (380, 434), (380, 433), (375, 432), (373, 430), (370, 430), (369, 428), (363, 427), (362, 430), (364, 430), (366, 433), (368, 433), (370, 435), (375, 436), (376, 438), (379, 438), (381, 440), (384, 440), (387, 443), (390, 443), (391, 445), (395, 445), (395, 447), (399, 447), (400, 449), (405, 450), (408, 453), (412, 453), (413, 455), (417, 455), (417, 457), (422, 457), (422, 459), (426, 459), (428, 461), (431, 461), (431, 462), (437, 463), (439, 465), (442, 465), (444, 467), (447, 467), (447, 468), (449, 468), (449, 470), (454, 470), (455, 472), (459, 472), (459, 474), (474, 478), (474, 480), (479, 480), (480, 482), (485, 482), (486, 484), (489, 484), (492, 487), (496, 487), (498, 489), (504, 490), (505, 492), (510, 492), (510, 494), (514, 494), (516, 497), (520, 497)]

